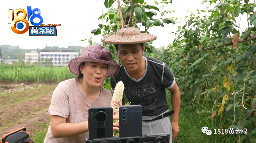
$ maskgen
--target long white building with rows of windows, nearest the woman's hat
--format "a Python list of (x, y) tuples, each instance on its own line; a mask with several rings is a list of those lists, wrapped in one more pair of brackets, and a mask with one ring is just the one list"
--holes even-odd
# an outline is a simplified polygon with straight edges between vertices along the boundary
[(77, 50), (41, 50), (40, 59), (43, 62), (48, 59), (53, 65), (62, 66), (67, 65), (77, 54)]

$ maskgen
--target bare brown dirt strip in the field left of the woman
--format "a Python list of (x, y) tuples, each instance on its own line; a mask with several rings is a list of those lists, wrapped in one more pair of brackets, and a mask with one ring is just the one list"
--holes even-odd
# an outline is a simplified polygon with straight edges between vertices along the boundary
[(20, 127), (26, 127), (27, 131), (30, 132), (33, 130), (34, 124), (48, 122), (49, 115), (47, 111), (51, 98), (52, 94), (48, 94), (0, 109), (0, 127), (2, 127), (0, 128), (0, 135), (2, 136)]

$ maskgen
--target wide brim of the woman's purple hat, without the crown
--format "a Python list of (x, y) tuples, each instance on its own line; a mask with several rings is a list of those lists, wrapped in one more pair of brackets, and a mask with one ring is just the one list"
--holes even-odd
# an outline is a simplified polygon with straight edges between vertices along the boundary
[(86, 61), (92, 61), (92, 62), (101, 62), (104, 64), (108, 64), (108, 73), (106, 77), (111, 77), (116, 75), (116, 73), (119, 71), (119, 65), (110, 61), (95, 59), (95, 58), (87, 58), (87, 57), (76, 57), (69, 61), (69, 71), (73, 73), (74, 75), (79, 75), (79, 65), (82, 62)]

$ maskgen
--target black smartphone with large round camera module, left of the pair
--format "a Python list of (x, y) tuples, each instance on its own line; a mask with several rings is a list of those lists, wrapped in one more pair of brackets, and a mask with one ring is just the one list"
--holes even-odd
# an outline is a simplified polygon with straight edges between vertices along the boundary
[(91, 107), (88, 112), (89, 140), (113, 137), (113, 108)]

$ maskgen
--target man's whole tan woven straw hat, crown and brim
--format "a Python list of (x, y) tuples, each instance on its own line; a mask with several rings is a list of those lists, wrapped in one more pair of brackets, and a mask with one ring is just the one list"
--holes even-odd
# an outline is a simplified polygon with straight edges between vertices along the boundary
[(102, 43), (107, 44), (138, 44), (156, 40), (156, 36), (148, 33), (140, 33), (134, 27), (121, 28), (115, 35), (107, 35), (101, 38)]

